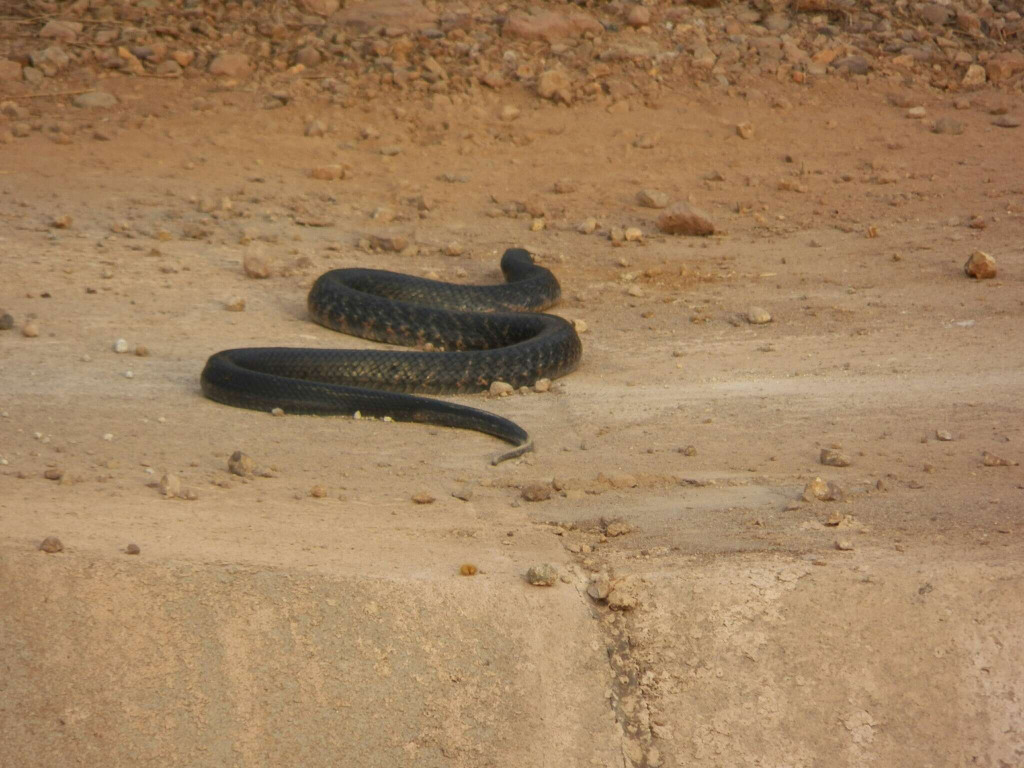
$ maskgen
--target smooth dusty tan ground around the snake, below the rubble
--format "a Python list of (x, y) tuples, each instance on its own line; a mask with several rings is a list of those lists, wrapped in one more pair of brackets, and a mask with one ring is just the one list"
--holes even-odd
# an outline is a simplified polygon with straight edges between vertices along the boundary
[[(609, 113), (103, 87), (100, 113), (32, 99), (41, 130), (0, 155), (12, 764), (1024, 762), (1024, 159), (990, 114), (1019, 92), (897, 106), (884, 78), (764, 78)], [(327, 165), (345, 178), (310, 177)], [(644, 188), (718, 233), (659, 233)], [(411, 247), (368, 246), (393, 236)], [(475, 433), (202, 397), (218, 349), (362, 343), (305, 317), (326, 269), (494, 282), (512, 246), (558, 275), (583, 364), (458, 399), (532, 455), (490, 467)], [(976, 250), (995, 279), (965, 274)], [(269, 476), (229, 474), (237, 450)], [(805, 501), (815, 477), (843, 499)], [(562, 579), (529, 586), (543, 562)]]

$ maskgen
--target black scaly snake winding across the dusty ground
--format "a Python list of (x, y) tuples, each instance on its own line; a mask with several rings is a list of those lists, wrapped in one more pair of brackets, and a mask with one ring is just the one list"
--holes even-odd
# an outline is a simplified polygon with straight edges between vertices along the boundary
[(492, 462), (531, 451), (521, 427), (486, 411), (419, 393), (479, 392), (564, 376), (580, 362), (571, 324), (536, 310), (561, 295), (555, 275), (522, 249), (502, 257), (506, 283), (461, 286), (379, 269), (334, 269), (309, 291), (309, 316), (327, 328), (436, 352), (249, 347), (212, 355), (203, 393), (228, 406), (289, 414), (391, 417), (474, 429), (511, 442)]

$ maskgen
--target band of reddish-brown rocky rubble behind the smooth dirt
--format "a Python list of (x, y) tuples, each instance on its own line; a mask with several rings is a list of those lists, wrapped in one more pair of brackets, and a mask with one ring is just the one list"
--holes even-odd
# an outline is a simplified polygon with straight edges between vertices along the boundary
[(13, 97), (3, 138), (27, 135), (25, 104), (44, 94), (113, 105), (112, 77), (245, 82), (268, 108), (317, 95), (459, 106), (518, 89), (614, 112), (764, 77), (1020, 92), (1022, 11), (1021, 0), (33, 2), (0, 20), (0, 87)]

